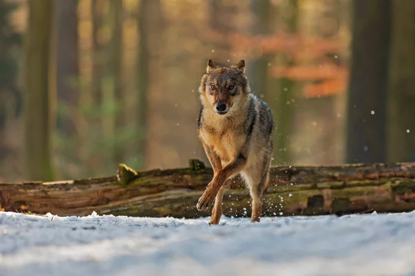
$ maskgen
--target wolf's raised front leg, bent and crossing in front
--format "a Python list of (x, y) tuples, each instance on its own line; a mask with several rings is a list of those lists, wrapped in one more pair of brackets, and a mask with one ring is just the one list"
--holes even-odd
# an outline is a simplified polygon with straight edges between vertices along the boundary
[(225, 184), (225, 181), (237, 175), (243, 167), (246, 165), (246, 155), (240, 153), (237, 158), (226, 165), (221, 170), (218, 170), (213, 177), (213, 180), (206, 188), (205, 193), (201, 196), (196, 204), (197, 210), (206, 210), (212, 205), (214, 198), (218, 194), (221, 187)]

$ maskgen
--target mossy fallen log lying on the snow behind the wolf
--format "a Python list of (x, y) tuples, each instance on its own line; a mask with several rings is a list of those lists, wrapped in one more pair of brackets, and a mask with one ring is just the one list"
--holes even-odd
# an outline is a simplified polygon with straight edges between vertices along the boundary
[[(196, 202), (212, 179), (198, 160), (190, 168), (136, 172), (55, 182), (0, 183), (0, 210), (54, 215), (207, 217)], [(415, 210), (415, 163), (275, 166), (264, 195), (264, 216), (396, 213)], [(250, 216), (250, 197), (236, 177), (223, 213)]]

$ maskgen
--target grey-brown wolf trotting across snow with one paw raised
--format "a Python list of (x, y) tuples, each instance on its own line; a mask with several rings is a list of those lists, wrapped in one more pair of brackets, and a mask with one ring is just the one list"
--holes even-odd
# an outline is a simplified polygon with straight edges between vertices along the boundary
[(207, 210), (214, 203), (210, 224), (219, 224), (225, 190), (241, 175), (252, 198), (250, 221), (259, 222), (273, 158), (270, 107), (251, 92), (243, 59), (230, 66), (209, 59), (199, 98), (197, 129), (214, 177), (196, 208)]

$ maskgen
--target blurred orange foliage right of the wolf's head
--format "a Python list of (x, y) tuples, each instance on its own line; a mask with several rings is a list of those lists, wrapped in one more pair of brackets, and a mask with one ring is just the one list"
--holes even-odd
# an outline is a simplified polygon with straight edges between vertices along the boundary
[(347, 89), (349, 68), (337, 66), (331, 61), (323, 61), (322, 63), (328, 53), (342, 52), (347, 47), (338, 36), (324, 38), (277, 33), (269, 36), (250, 37), (243, 34), (232, 34), (227, 39), (235, 50), (243, 53), (250, 55), (283, 53), (291, 57), (294, 63), (311, 64), (307, 66), (275, 66), (268, 71), (276, 78), (283, 77), (293, 81), (319, 81), (319, 83), (305, 84), (303, 90), (305, 97), (335, 95), (345, 92)]

